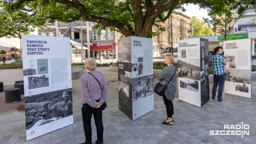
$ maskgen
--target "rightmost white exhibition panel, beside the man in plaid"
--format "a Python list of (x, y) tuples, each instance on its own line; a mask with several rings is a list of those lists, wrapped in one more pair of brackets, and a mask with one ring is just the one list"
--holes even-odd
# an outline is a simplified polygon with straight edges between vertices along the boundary
[(251, 98), (251, 40), (223, 42), (226, 65), (225, 93)]

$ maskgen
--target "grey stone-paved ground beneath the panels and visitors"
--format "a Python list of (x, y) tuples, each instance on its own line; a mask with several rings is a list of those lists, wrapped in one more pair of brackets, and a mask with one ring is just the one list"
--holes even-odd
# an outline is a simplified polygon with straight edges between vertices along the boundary
[[(256, 91), (252, 98), (224, 94), (223, 101), (208, 101), (202, 108), (174, 100), (174, 125), (166, 119), (163, 101), (154, 103), (154, 111), (130, 120), (118, 107), (104, 110), (104, 144), (256, 144)], [(210, 130), (224, 130), (224, 124), (250, 125), (250, 135), (211, 136)], [(96, 127), (92, 119), (93, 142)], [(85, 140), (82, 115), (74, 114), (74, 124), (26, 142), (24, 122), (0, 124), (0, 144), (78, 144)]]

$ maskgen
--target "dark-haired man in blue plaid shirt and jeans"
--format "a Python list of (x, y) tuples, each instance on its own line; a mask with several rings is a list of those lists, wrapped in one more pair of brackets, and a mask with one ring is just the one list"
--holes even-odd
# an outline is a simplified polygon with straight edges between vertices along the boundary
[(212, 57), (213, 65), (213, 86), (212, 86), (212, 99), (215, 99), (217, 86), (219, 84), (218, 90), (218, 102), (222, 101), (222, 92), (226, 79), (226, 74), (224, 68), (226, 68), (227, 63), (224, 58), (220, 56), (222, 54), (222, 47), (217, 46), (214, 48), (215, 55)]

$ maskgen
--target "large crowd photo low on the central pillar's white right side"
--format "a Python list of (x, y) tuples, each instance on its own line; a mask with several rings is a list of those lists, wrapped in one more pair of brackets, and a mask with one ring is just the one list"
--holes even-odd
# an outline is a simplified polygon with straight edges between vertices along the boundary
[(154, 93), (153, 75), (141, 76), (132, 79), (132, 102)]

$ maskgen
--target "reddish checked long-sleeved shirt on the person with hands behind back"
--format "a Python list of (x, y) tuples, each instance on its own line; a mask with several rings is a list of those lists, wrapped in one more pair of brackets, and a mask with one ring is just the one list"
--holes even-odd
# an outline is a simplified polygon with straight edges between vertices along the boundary
[[(86, 73), (80, 77), (81, 104), (87, 103), (92, 108), (97, 105), (96, 100), (105, 102), (108, 94), (108, 88), (105, 82), (105, 77), (101, 72), (91, 71), (91, 74), (100, 82), (101, 88), (97, 80), (90, 74)], [(102, 91), (101, 91), (102, 89)], [(102, 94), (101, 94), (102, 92)]]

